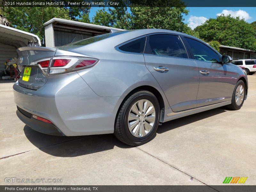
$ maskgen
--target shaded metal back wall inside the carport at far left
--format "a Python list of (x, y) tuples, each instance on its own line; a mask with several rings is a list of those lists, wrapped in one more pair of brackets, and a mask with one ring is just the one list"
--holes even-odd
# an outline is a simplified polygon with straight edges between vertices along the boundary
[(0, 43), (0, 71), (3, 71), (5, 68), (4, 63), (6, 59), (12, 59), (13, 57), (18, 58), (16, 47)]

